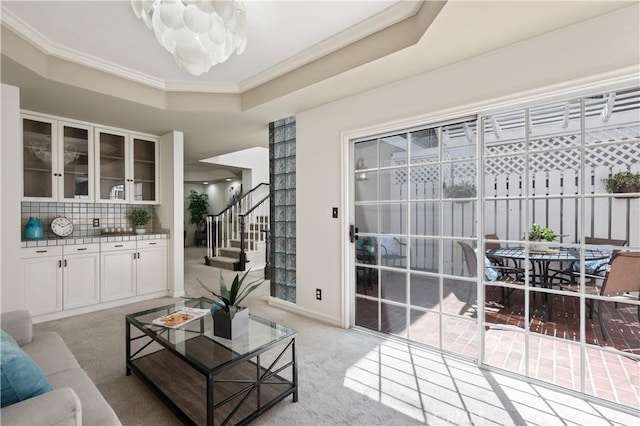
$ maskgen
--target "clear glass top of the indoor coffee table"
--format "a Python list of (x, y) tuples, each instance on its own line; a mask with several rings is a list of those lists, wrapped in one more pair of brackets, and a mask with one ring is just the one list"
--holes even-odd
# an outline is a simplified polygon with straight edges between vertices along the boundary
[(154, 319), (180, 308), (208, 309), (211, 304), (212, 301), (206, 298), (185, 299), (172, 305), (127, 315), (127, 321), (204, 372), (239, 358), (251, 357), (252, 354), (260, 353), (263, 349), (296, 334), (293, 329), (252, 314), (249, 315), (247, 332), (233, 340), (214, 336), (213, 319), (210, 314), (175, 329), (153, 324)]

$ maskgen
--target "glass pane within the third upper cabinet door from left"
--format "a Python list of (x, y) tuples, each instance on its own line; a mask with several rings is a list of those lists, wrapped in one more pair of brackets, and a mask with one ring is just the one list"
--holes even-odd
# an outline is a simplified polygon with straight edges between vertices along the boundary
[(126, 200), (126, 137), (99, 132), (100, 200)]

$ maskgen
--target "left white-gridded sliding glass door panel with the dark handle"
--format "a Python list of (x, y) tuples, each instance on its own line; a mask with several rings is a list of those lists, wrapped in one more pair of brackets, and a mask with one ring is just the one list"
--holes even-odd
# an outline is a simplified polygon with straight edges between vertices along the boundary
[[(475, 118), (353, 145), (355, 324), (478, 353)], [(475, 269), (475, 268), (474, 268)]]

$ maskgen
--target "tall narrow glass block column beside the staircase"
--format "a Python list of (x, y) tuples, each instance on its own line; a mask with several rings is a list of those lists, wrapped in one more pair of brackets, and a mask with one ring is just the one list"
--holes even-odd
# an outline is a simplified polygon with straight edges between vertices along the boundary
[(271, 296), (296, 302), (296, 119), (269, 123)]

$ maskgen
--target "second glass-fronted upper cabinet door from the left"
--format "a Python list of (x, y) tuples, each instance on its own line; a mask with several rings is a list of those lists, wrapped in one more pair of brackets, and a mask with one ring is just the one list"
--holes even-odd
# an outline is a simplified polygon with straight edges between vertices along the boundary
[(58, 123), (58, 199), (93, 201), (93, 131), (75, 123)]

